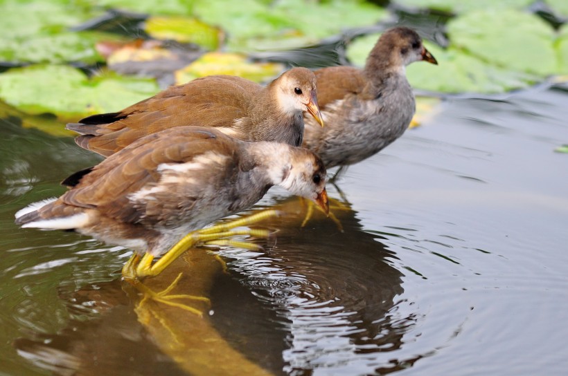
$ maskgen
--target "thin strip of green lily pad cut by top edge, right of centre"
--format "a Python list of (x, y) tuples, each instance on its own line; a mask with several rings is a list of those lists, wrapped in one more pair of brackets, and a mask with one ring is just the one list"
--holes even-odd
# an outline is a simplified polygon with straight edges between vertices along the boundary
[[(560, 0), (563, 1), (563, 0)], [(406, 8), (418, 8), (418, 9), (432, 9), (441, 10), (443, 12), (451, 13), (465, 13), (471, 12), (472, 10), (483, 10), (483, 9), (504, 9), (504, 8), (515, 8), (523, 9), (531, 5), (534, 0), (475, 0), (475, 1), (463, 1), (463, 0), (396, 0), (400, 6)]]

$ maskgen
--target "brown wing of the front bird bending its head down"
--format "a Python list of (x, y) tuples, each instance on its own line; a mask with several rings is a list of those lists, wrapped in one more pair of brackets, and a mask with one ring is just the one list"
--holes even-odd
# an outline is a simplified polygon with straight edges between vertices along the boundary
[(188, 162), (213, 147), (219, 153), (231, 153), (234, 143), (220, 132), (196, 127), (154, 133), (98, 164), (60, 200), (74, 207), (96, 207), (123, 222), (136, 222), (142, 213), (127, 205), (128, 196), (159, 181), (159, 164)]

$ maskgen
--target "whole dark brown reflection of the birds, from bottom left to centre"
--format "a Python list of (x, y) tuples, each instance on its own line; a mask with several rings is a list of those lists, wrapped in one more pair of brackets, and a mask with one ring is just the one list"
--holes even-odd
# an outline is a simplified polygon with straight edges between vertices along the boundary
[(128, 285), (122, 285), (127, 296), (114, 281), (62, 296), (73, 310), (98, 310), (94, 319), (73, 320), (59, 335), (21, 339), (15, 346), (61, 375), (117, 369), (121, 375), (303, 374), (314, 368), (349, 373), (361, 362), (369, 373), (389, 363), (393, 355), (381, 359), (378, 353), (400, 348), (412, 326), (411, 317), (393, 312), (403, 291), (402, 274), (389, 263), (395, 256), (362, 230), (348, 206), (335, 211), (343, 232), (321, 213), (301, 227), (306, 208), (297, 198), (276, 208), (280, 217), (259, 224), (276, 229), (272, 246), (220, 251), (228, 273), (214, 254), (196, 249), (147, 280), (159, 291), (182, 272), (173, 293), (210, 298), (211, 306), (184, 302), (203, 317), (153, 301), (141, 304)]

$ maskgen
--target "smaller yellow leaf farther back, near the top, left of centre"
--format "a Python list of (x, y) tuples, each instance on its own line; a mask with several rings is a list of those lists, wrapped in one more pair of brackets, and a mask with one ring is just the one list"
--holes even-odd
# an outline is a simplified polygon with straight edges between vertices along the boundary
[(182, 43), (194, 43), (207, 50), (217, 50), (224, 33), (193, 17), (150, 17), (145, 31), (155, 39), (171, 39)]

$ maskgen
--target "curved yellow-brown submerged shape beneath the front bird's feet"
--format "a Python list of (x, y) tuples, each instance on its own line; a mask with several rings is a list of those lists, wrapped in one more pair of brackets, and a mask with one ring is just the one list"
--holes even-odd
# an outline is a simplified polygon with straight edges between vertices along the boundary
[[(170, 288), (168, 294), (175, 296), (183, 291), (207, 299), (211, 297), (213, 285), (221, 273), (222, 265), (215, 259), (215, 255), (204, 248), (195, 248), (172, 262), (159, 276), (144, 283), (151, 290), (166, 291), (174, 285), (170, 281), (177, 279), (177, 284)], [(183, 276), (179, 278), (180, 275)], [(125, 290), (132, 290), (131, 286), (130, 283), (125, 283)], [(209, 306), (206, 301), (187, 301), (192, 307), (204, 312), (199, 317), (190, 310), (157, 303), (145, 294), (134, 294), (134, 299), (139, 299), (134, 310), (152, 341), (188, 374), (271, 375), (268, 370), (242, 355), (218, 332), (208, 314), (208, 310), (215, 310), (214, 305)]]

